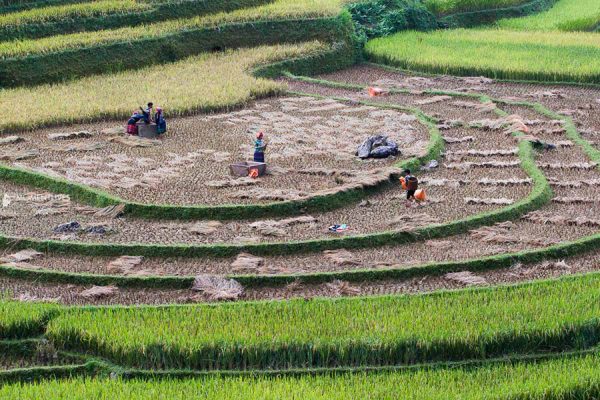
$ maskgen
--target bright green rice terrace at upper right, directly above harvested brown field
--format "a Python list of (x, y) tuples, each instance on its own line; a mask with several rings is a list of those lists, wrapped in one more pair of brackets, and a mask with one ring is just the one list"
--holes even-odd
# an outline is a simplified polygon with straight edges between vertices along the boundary
[(370, 41), (366, 51), (377, 62), (417, 71), (600, 83), (600, 35), (595, 33), (409, 31)]

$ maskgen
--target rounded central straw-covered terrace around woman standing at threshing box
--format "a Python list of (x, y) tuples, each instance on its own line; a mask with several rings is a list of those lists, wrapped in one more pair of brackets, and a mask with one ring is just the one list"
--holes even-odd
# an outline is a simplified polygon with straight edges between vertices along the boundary
[[(148, 147), (114, 141), (124, 136), (110, 133), (111, 128), (121, 129), (112, 122), (24, 132), (17, 135), (22, 140), (0, 145), (0, 159), (135, 202), (249, 204), (335, 189), (344, 183), (336, 172), (343, 172), (347, 183), (397, 162), (395, 157), (355, 157), (358, 145), (371, 135), (388, 135), (405, 158), (422, 152), (429, 140), (426, 127), (405, 112), (310, 97), (276, 98), (231, 113), (173, 118), (165, 137), (146, 141)], [(81, 131), (90, 135), (51, 139)], [(250, 182), (234, 180), (229, 165), (252, 159), (258, 131), (266, 135), (272, 174)], [(327, 173), (307, 174), (307, 169)], [(244, 196), (248, 189), (273, 192), (277, 199)]]

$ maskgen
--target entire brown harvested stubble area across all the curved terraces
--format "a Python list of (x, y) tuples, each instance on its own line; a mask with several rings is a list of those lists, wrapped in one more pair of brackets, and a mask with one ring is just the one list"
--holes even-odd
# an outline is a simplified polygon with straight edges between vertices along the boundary
[[(394, 164), (423, 154), (429, 141), (425, 125), (410, 112), (359, 103), (370, 101), (382, 106), (419, 108), (437, 120), (445, 141), (444, 153), (437, 159), (437, 167), (416, 172), (427, 192), (427, 201), (407, 206), (405, 192), (398, 182), (393, 182), (363, 201), (327, 212), (237, 221), (153, 221), (0, 181), (0, 197), (4, 199), (0, 233), (16, 239), (67, 242), (209, 245), (411, 231), (498, 211), (526, 199), (533, 181), (522, 169), (519, 140), (512, 134), (515, 127), (522, 127), (528, 135), (556, 146), (535, 152), (535, 163), (552, 187), (552, 200), (513, 221), (410, 244), (277, 256), (241, 253), (224, 258), (67, 256), (8, 248), (0, 252), (0, 262), (32, 270), (131, 277), (302, 274), (468, 260), (542, 249), (600, 231), (600, 169), (569, 140), (561, 121), (525, 106), (423, 93), (426, 89), (438, 89), (539, 102), (571, 116), (582, 137), (598, 145), (598, 89), (502, 83), (485, 78), (412, 76), (370, 65), (320, 78), (411, 92), (370, 98), (366, 91), (287, 80), (294, 92), (325, 98), (288, 96), (258, 101), (228, 114), (176, 118), (170, 121), (171, 133), (160, 142), (144, 143), (144, 147), (111, 139), (116, 136), (116, 131), (110, 130), (114, 128), (113, 121), (22, 133), (18, 136), (23, 140), (0, 145), (0, 153), (5, 154), (3, 162), (9, 165), (67, 178), (144, 203), (222, 205), (302, 199), (314, 193), (333, 193), (344, 185), (365, 182), (374, 176), (377, 179), (383, 176), (381, 179), (385, 180)], [(267, 135), (271, 174), (248, 184), (232, 183), (239, 180), (231, 179), (228, 165), (251, 155), (252, 139), (258, 130)], [(91, 136), (64, 140), (51, 136), (81, 131), (90, 132)], [(354, 156), (362, 140), (382, 133), (400, 144), (399, 157), (361, 161)], [(21, 160), (9, 157), (28, 153), (30, 156)], [(258, 198), (261, 193), (273, 196)], [(72, 224), (75, 222), (76, 225)], [(327, 228), (333, 224), (347, 224), (349, 229), (331, 233)], [(585, 273), (599, 268), (600, 254), (592, 252), (566, 260), (515, 264), (477, 274), (458, 272), (407, 280), (335, 281), (319, 285), (298, 281), (284, 287), (242, 288), (233, 298), (190, 289), (95, 288), (13, 278), (0, 278), (0, 291), (24, 301), (165, 304), (428, 292)]]

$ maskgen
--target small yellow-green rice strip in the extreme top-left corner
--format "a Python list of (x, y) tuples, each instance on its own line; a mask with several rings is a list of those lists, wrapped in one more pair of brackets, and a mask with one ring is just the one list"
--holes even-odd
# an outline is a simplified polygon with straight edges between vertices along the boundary
[(148, 3), (140, 3), (136, 0), (99, 0), (86, 3), (53, 5), (0, 14), (0, 28), (4, 26), (44, 23), (63, 18), (73, 19), (119, 12), (140, 12), (150, 8)]

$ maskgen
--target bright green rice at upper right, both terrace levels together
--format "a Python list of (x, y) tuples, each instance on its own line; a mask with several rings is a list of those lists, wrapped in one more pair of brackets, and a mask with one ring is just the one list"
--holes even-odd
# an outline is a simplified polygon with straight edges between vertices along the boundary
[(546, 12), (497, 27), (400, 32), (367, 44), (372, 60), (401, 68), (497, 79), (600, 83), (600, 6), (559, 0)]

